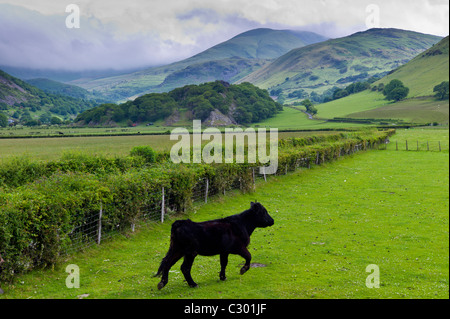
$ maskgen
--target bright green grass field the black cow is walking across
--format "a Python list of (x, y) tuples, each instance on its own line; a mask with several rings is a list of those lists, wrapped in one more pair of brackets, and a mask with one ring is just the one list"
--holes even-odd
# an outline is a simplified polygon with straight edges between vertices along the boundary
[[(228, 280), (218, 257), (198, 257), (183, 282), (178, 262), (168, 285), (152, 278), (168, 249), (170, 224), (142, 226), (79, 253), (54, 270), (2, 285), (1, 298), (448, 298), (448, 130), (406, 130), (386, 151), (260, 182), (257, 191), (210, 201), (190, 218), (202, 221), (247, 208), (257, 199), (275, 219), (252, 235), (252, 268), (230, 256)], [(444, 152), (395, 151), (395, 141), (445, 141)], [(67, 289), (67, 264), (80, 267), (80, 289)], [(369, 264), (380, 268), (379, 289), (365, 286)]]

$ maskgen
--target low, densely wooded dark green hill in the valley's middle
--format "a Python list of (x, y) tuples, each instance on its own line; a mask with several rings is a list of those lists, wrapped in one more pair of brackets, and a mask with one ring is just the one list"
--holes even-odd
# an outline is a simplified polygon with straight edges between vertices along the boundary
[(75, 119), (79, 125), (133, 125), (165, 121), (181, 124), (193, 119), (206, 125), (255, 123), (274, 116), (283, 107), (266, 90), (250, 83), (230, 85), (214, 81), (186, 85), (168, 93), (150, 93), (122, 104), (102, 104)]

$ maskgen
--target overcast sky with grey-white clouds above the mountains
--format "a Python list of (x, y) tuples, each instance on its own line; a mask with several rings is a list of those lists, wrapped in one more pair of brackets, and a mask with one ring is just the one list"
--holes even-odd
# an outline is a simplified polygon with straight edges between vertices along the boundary
[[(67, 28), (80, 9), (80, 28)], [(126, 69), (187, 58), (267, 27), (331, 38), (374, 24), (448, 35), (448, 0), (0, 0), (0, 65)]]

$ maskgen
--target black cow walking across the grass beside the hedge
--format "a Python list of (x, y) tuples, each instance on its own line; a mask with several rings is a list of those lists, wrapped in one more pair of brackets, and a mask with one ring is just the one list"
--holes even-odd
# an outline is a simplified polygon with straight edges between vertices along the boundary
[(202, 223), (195, 223), (190, 219), (175, 221), (172, 224), (169, 251), (155, 275), (155, 277), (162, 275), (158, 289), (162, 289), (167, 284), (170, 268), (181, 257), (184, 257), (181, 271), (190, 287), (197, 287), (191, 277), (192, 263), (197, 255), (220, 254), (220, 280), (226, 280), (225, 268), (228, 255), (240, 255), (245, 259), (245, 265), (241, 268), (241, 275), (243, 275), (250, 268), (252, 258), (247, 249), (250, 235), (256, 227), (268, 227), (273, 223), (273, 218), (264, 206), (253, 202), (250, 209), (222, 219)]

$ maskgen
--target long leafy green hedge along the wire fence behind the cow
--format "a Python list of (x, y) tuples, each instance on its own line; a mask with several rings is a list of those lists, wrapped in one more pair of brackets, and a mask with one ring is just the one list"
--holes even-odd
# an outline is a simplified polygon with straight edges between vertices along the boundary
[[(359, 149), (373, 147), (392, 134), (383, 131), (281, 140), (277, 173), (295, 169), (299, 161), (310, 165), (336, 159), (357, 145)], [(74, 229), (98, 214), (100, 207), (102, 232), (109, 232), (134, 223), (152, 207), (160, 207), (162, 187), (169, 211), (184, 212), (192, 208), (199, 180), (208, 178), (211, 193), (231, 188), (245, 192), (254, 185), (250, 168), (258, 166), (169, 162), (148, 166), (138, 157), (107, 160), (95, 156), (17, 164), (17, 179), (10, 178), (10, 186), (3, 189), (0, 186), (0, 254), (5, 260), (2, 280), (57, 263), (71, 247)], [(31, 182), (25, 183), (27, 180)]]

